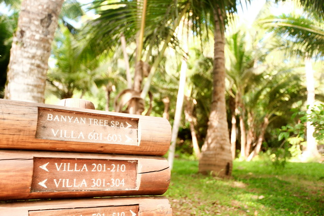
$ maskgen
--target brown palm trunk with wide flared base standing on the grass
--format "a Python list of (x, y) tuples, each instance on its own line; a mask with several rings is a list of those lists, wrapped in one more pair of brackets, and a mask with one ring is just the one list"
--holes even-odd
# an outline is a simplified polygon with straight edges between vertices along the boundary
[(199, 159), (199, 173), (212, 173), (229, 177), (232, 173), (232, 154), (225, 104), (225, 55), (224, 20), (221, 13), (214, 13), (214, 68), (213, 98), (207, 135)]

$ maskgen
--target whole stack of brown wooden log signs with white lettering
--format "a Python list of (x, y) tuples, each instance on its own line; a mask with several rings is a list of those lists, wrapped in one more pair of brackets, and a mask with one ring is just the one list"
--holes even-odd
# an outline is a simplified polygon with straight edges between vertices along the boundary
[(143, 196), (169, 187), (170, 140), (164, 118), (0, 100), (0, 216), (172, 216)]

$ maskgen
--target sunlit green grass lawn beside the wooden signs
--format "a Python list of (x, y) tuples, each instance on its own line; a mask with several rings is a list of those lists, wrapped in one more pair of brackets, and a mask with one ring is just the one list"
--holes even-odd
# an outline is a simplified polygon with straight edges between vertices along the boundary
[(324, 216), (324, 164), (235, 161), (233, 178), (198, 174), (176, 160), (165, 196), (177, 216)]

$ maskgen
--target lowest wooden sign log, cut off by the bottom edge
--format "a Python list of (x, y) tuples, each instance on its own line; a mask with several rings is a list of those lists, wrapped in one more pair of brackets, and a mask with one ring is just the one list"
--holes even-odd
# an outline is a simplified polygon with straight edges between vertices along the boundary
[(172, 216), (172, 209), (163, 197), (0, 202), (0, 216), (118, 216), (118, 213), (119, 216)]

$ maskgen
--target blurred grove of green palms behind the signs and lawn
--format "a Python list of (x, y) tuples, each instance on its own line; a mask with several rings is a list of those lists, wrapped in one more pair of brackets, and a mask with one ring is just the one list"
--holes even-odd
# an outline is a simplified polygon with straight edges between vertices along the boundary
[[(3, 98), (20, 1), (0, 2), (7, 10), (0, 17)], [(214, 149), (217, 154), (211, 157), (222, 158), (220, 153), (226, 148), (229, 160), (263, 156), (286, 160), (300, 157), (309, 148), (323, 153), (323, 141), (309, 145), (312, 133), (317, 137), (323, 134), (323, 122), (318, 120), (323, 112), (315, 112), (315, 117), (312, 112), (302, 113), (307, 104), (309, 111), (316, 104), (319, 109), (323, 107), (323, 8), (315, 4), (317, 1), (287, 0), (288, 6), (270, 1), (250, 23), (235, 13), (239, 5), (231, 8), (226, 5), (229, 1), (199, 2), (65, 1), (48, 61), (45, 103), (84, 98), (94, 102), (97, 109), (164, 116), (173, 125), (185, 63), (175, 157), (206, 157), (211, 154), (210, 146), (218, 144)], [(220, 11), (211, 5), (218, 5)], [(281, 13), (277, 10), (280, 7), (290, 10)], [(213, 122), (210, 115), (218, 110), (212, 107), (216, 100), (212, 99), (216, 94), (212, 89), (220, 84), (213, 75), (220, 63), (214, 60), (221, 58), (214, 56), (215, 20), (224, 22), (217, 31), (224, 32), (226, 77), (220, 79), (224, 80), (225, 123), (221, 125), (228, 132), (220, 136), (228, 140), (221, 144), (218, 138), (207, 137), (210, 146), (200, 152)], [(222, 40), (221, 36), (217, 40)], [(313, 90), (307, 86), (305, 65), (311, 66)], [(309, 119), (302, 121), (305, 116)], [(307, 122), (315, 127), (313, 132), (304, 132)], [(294, 137), (302, 139), (296, 143)], [(204, 149), (208, 149), (206, 153)], [(314, 154), (309, 159), (319, 156)], [(227, 162), (223, 163), (220, 170), (226, 166)]]

